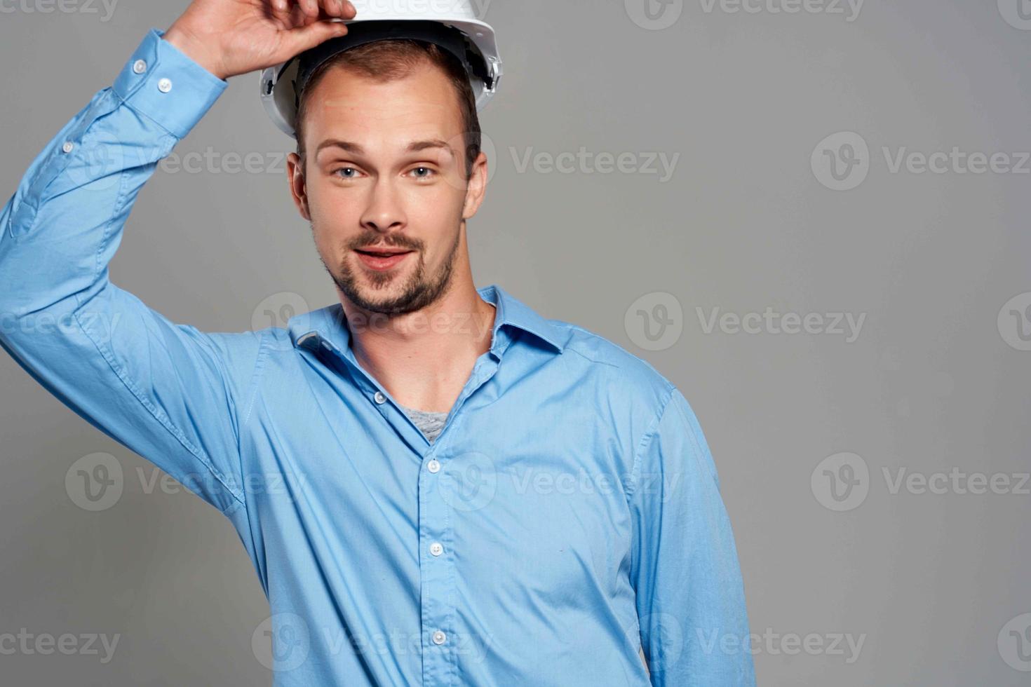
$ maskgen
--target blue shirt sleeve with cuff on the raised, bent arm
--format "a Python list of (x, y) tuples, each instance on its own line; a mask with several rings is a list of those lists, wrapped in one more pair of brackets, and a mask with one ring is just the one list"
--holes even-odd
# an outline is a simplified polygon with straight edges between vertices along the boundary
[(78, 415), (228, 514), (243, 503), (238, 423), (261, 337), (173, 323), (107, 269), (141, 186), (227, 87), (162, 36), (147, 33), (0, 212), (0, 344)]

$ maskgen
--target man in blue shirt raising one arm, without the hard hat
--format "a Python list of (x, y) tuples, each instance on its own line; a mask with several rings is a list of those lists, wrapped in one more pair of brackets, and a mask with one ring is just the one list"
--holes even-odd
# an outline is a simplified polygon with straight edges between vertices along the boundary
[(140, 187), (225, 79), (355, 16), (196, 0), (152, 31), (0, 214), (0, 312), (62, 324), (5, 328), (3, 347), (230, 519), (270, 603), (276, 685), (753, 685), (730, 522), (683, 393), (473, 286), (488, 161), (445, 50), (369, 43), (304, 87), (288, 180), (339, 303), (212, 334), (108, 279)]

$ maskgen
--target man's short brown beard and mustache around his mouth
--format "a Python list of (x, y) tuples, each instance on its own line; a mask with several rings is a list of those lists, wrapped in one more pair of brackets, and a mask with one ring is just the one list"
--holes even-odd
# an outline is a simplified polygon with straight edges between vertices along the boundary
[[(455, 256), (462, 239), (462, 233), (456, 232), (455, 242), (447, 251), (443, 264), (435, 274), (427, 274), (426, 262), (423, 260), (422, 241), (415, 241), (400, 235), (380, 236), (375, 233), (363, 235), (347, 246), (350, 256), (354, 248), (366, 245), (376, 245), (386, 243), (388, 246), (407, 248), (415, 251), (418, 264), (411, 275), (401, 288), (401, 293), (392, 297), (377, 297), (377, 291), (384, 289), (389, 284), (395, 282), (398, 277), (390, 272), (363, 272), (368, 275), (361, 277), (355, 270), (348, 267), (347, 261), (340, 262), (336, 272), (331, 270), (323, 260), (323, 267), (329, 273), (337, 288), (347, 297), (358, 308), (370, 313), (380, 313), (385, 315), (403, 315), (409, 312), (417, 312), (442, 298), (451, 288), (452, 275), (455, 270)], [(322, 255), (320, 255), (322, 259)], [(364, 286), (361, 282), (369, 281), (370, 287)]]

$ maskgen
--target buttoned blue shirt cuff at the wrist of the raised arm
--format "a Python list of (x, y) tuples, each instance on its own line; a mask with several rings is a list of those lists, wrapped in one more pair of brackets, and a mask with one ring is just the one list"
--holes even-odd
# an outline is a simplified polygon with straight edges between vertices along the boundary
[(207, 71), (151, 29), (114, 79), (114, 93), (137, 112), (184, 138), (229, 82)]

